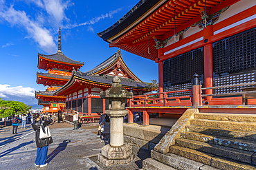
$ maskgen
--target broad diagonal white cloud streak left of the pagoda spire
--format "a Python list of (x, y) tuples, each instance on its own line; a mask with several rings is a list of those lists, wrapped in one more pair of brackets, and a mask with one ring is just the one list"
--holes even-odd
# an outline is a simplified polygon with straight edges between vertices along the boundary
[(33, 38), (45, 52), (53, 53), (57, 50), (51, 33), (36, 21), (32, 21), (26, 15), (26, 12), (15, 10), (13, 6), (10, 6), (10, 8), (0, 11), (0, 17), (8, 21), (11, 25), (25, 28), (29, 37)]

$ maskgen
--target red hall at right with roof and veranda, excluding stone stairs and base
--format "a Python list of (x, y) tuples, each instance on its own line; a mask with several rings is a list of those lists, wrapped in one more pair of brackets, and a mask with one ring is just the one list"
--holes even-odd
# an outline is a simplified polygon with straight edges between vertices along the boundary
[[(158, 98), (152, 104), (147, 95), (135, 96), (130, 113), (143, 112), (145, 125), (149, 113), (181, 116), (193, 107), (193, 95), (207, 111), (212, 105), (256, 104), (246, 92), (256, 92), (255, 5), (246, 0), (140, 1), (98, 33), (109, 47), (158, 63)], [(194, 74), (199, 74), (198, 94), (192, 90)]]

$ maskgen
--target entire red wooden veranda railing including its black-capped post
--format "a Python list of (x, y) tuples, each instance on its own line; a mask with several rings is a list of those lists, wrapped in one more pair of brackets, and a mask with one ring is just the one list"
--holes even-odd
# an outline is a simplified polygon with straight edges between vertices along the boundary
[[(253, 83), (242, 83), (234, 85), (222, 85), (217, 87), (201, 88), (198, 77), (193, 79), (192, 89), (182, 89), (171, 92), (161, 92), (157, 94), (147, 94), (134, 96), (130, 107), (167, 107), (167, 106), (201, 106), (201, 105), (256, 105), (256, 87), (244, 87), (244, 92), (231, 92), (221, 94), (203, 94), (206, 89), (219, 89), (228, 87), (241, 87), (256, 85)], [(174, 96), (170, 94), (179, 92), (190, 92), (190, 96)], [(206, 99), (205, 97), (219, 97)], [(223, 98), (225, 97), (225, 98)]]

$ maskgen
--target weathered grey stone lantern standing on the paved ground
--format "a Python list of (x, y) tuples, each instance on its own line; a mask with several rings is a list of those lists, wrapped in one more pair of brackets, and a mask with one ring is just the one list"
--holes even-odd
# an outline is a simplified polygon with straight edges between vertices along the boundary
[(106, 166), (112, 164), (127, 164), (134, 159), (132, 147), (124, 144), (123, 116), (128, 114), (125, 110), (125, 100), (133, 98), (134, 94), (122, 88), (121, 80), (117, 76), (112, 80), (112, 87), (100, 92), (100, 98), (109, 99), (109, 110), (106, 114), (110, 118), (110, 144), (102, 147), (98, 160)]

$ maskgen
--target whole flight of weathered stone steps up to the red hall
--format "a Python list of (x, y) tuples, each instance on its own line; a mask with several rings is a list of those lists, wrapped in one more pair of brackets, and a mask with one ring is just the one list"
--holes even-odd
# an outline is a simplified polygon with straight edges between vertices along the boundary
[(256, 169), (256, 115), (196, 113), (175, 144), (152, 150), (143, 169)]

